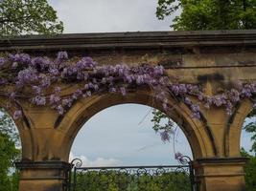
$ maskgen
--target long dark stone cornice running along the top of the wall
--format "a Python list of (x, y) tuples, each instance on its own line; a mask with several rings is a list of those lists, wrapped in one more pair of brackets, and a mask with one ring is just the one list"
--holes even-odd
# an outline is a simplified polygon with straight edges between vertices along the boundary
[[(192, 47), (256, 50), (256, 30), (211, 32), (106, 32), (73, 33), (55, 36), (24, 35), (0, 40), (0, 52), (56, 52), (59, 50), (99, 52), (105, 50), (168, 50)], [(183, 50), (183, 51), (182, 51)], [(188, 52), (188, 51), (186, 51)], [(190, 52), (190, 51), (189, 51)]]

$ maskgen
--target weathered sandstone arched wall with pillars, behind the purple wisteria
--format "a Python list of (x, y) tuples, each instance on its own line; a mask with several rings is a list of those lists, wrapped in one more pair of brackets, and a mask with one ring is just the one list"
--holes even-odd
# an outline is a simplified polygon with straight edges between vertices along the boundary
[[(248, 32), (134, 32), (108, 34), (63, 34), (57, 37), (28, 37), (0, 41), (1, 52), (21, 49), (25, 53), (53, 55), (58, 50), (71, 56), (92, 56), (99, 63), (143, 63), (163, 65), (169, 76), (182, 83), (199, 83), (206, 95), (231, 86), (234, 80), (255, 80), (255, 31)], [(12, 44), (10, 44), (10, 42)], [(40, 44), (40, 46), (38, 46)], [(234, 48), (236, 47), (236, 48)], [(72, 86), (61, 84), (62, 96)], [(63, 190), (66, 171), (70, 168), (69, 151), (74, 138), (89, 117), (106, 107), (121, 103), (140, 103), (162, 110), (151, 90), (129, 90), (128, 96), (102, 94), (78, 100), (69, 111), (59, 116), (49, 106), (34, 106), (20, 100), (23, 117), (16, 121), (21, 135), (22, 160), (20, 191)], [(199, 101), (197, 98), (195, 102)], [(0, 96), (0, 104), (8, 102)], [(201, 111), (192, 117), (182, 102), (171, 96), (174, 107), (169, 117), (180, 125), (188, 138), (200, 190), (244, 190), (244, 158), (241, 158), (241, 128), (251, 101), (244, 99), (229, 117), (224, 108)], [(9, 110), (12, 113), (12, 108)]]

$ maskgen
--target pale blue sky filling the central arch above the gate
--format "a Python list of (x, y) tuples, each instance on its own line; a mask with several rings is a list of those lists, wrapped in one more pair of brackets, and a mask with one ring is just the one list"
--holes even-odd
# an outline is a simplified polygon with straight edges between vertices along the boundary
[(170, 141), (163, 142), (160, 135), (155, 134), (152, 111), (149, 106), (127, 103), (97, 113), (82, 126), (73, 142), (69, 161), (82, 159), (88, 167), (175, 164), (178, 163), (175, 153), (192, 159), (188, 140), (176, 124), (173, 129), (176, 133)]

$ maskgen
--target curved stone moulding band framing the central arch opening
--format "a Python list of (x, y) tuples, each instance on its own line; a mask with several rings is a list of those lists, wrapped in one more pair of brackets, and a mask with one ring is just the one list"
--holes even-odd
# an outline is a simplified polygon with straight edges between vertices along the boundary
[[(82, 125), (98, 112), (110, 106), (137, 103), (147, 105), (164, 112), (162, 103), (155, 98), (150, 90), (137, 90), (129, 92), (127, 96), (121, 94), (102, 94), (91, 96), (90, 98), (82, 98), (78, 100), (62, 118), (58, 125), (58, 129), (65, 131), (66, 137), (63, 139), (65, 145), (64, 160), (68, 161), (69, 153), (74, 139), (79, 133)], [(204, 123), (192, 117), (191, 111), (182, 102), (177, 102), (172, 97), (169, 97), (168, 104), (172, 108), (167, 114), (183, 131), (188, 139), (194, 159), (204, 157), (214, 157), (215, 143), (212, 141), (212, 135), (209, 135)], [(63, 148), (63, 147), (62, 147)]]

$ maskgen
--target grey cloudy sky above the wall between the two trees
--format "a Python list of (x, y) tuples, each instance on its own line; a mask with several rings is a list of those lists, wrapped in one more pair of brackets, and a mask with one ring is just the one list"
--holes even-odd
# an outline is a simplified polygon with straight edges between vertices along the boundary
[(156, 0), (51, 0), (64, 32), (145, 32), (170, 30), (171, 18), (155, 17)]

